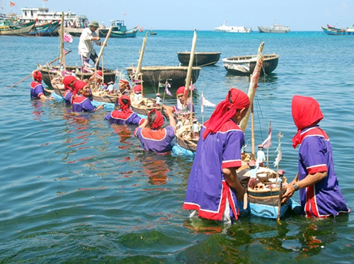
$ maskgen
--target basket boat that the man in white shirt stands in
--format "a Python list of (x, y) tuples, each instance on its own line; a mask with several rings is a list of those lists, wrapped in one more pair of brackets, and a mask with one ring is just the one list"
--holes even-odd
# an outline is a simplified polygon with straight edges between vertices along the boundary
[[(45, 65), (40, 65), (38, 64), (38, 69), (42, 73), (42, 79), (45, 84), (47, 84), (48, 87), (52, 87), (51, 81), (53, 78), (55, 78), (58, 75), (58, 71), (60, 69), (59, 66), (51, 66), (47, 67)], [(77, 70), (76, 70), (77, 69)], [(92, 73), (83, 73), (79, 72), (79, 69), (76, 66), (67, 66), (66, 67), (67, 71), (76, 71), (75, 74), (76, 76), (81, 79), (90, 79), (92, 76)], [(91, 69), (92, 71), (95, 71), (95, 69)], [(104, 69), (103, 71), (103, 81), (105, 84), (108, 84), (110, 81), (115, 82), (115, 76), (116, 71), (110, 70), (110, 69)]]

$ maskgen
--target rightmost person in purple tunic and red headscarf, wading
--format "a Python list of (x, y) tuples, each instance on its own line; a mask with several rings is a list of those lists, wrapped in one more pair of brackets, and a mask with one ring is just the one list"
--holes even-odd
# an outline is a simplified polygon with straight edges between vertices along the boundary
[(333, 166), (331, 142), (319, 122), (324, 115), (319, 103), (311, 97), (292, 98), (292, 118), (297, 134), (292, 139), (294, 149), (299, 147), (299, 172), (289, 185), (283, 201), (299, 190), (302, 214), (325, 218), (350, 212), (341, 194)]

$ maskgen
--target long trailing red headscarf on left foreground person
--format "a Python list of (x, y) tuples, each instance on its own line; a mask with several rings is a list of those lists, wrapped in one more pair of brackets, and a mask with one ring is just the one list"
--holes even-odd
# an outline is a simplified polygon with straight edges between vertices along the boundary
[(212, 116), (205, 123), (206, 129), (202, 134), (202, 138), (205, 139), (209, 133), (218, 132), (227, 120), (234, 117), (236, 110), (247, 109), (249, 105), (249, 96), (246, 93), (236, 88), (231, 88), (225, 100), (217, 105)]

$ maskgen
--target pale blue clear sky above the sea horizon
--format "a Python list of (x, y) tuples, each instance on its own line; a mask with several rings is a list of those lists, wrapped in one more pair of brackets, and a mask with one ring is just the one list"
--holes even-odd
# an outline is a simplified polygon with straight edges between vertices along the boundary
[(222, 25), (288, 25), (292, 31), (321, 31), (321, 26), (354, 25), (354, 0), (0, 0), (1, 13), (21, 14), (23, 7), (85, 15), (110, 25), (121, 19), (127, 28), (214, 30)]

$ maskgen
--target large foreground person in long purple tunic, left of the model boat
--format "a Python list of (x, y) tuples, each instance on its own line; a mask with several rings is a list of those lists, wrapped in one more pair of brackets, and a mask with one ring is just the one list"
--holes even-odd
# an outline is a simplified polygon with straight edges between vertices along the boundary
[(246, 93), (231, 88), (202, 125), (183, 204), (183, 209), (193, 210), (190, 217), (229, 223), (238, 219), (237, 201), (243, 200), (244, 188), (236, 168), (241, 166), (241, 147), (245, 142), (238, 124), (249, 105)]

